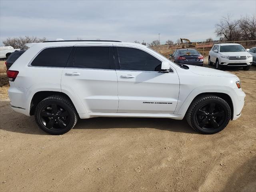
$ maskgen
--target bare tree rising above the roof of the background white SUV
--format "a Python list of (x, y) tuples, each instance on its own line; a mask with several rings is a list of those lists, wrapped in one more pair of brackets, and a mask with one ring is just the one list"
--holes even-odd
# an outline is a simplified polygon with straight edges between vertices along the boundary
[(219, 23), (215, 25), (215, 33), (225, 41), (234, 41), (240, 39), (239, 21), (231, 20), (230, 15), (222, 17)]

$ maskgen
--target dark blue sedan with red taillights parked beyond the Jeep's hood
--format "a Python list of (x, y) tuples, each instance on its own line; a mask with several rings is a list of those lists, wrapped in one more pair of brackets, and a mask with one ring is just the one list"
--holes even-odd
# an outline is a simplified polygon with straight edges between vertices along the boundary
[(204, 57), (195, 49), (178, 49), (170, 54), (170, 60), (176, 64), (203, 66)]

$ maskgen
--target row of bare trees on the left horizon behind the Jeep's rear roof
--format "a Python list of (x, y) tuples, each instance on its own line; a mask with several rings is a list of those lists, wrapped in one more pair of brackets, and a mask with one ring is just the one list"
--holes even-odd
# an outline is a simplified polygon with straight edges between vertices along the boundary
[(35, 36), (29, 37), (14, 37), (10, 38), (8, 37), (6, 40), (3, 40), (4, 46), (12, 46), (14, 49), (25, 49), (27, 48), (25, 46), (26, 43), (38, 43), (38, 42), (43, 42), (46, 41), (46, 38), (38, 38)]

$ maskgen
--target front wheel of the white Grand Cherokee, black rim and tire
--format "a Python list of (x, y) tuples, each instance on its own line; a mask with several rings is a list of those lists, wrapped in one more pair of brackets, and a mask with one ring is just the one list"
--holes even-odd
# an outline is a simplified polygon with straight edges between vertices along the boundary
[(231, 110), (228, 103), (214, 95), (203, 95), (194, 99), (186, 113), (188, 124), (202, 134), (220, 132), (228, 125), (230, 118)]

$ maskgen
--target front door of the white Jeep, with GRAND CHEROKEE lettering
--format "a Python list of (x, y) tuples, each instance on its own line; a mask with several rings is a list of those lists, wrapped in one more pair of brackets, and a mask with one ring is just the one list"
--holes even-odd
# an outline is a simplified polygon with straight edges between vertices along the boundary
[(150, 50), (122, 46), (114, 49), (120, 65), (117, 64), (116, 70), (118, 112), (173, 113), (180, 86), (176, 71), (160, 72), (162, 60)]

